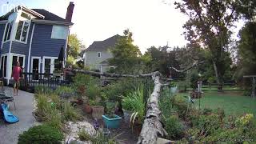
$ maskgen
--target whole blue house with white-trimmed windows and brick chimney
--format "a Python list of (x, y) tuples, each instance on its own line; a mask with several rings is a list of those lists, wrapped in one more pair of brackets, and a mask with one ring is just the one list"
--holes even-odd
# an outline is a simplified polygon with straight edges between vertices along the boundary
[(17, 61), (30, 73), (53, 73), (56, 63), (65, 66), (73, 10), (70, 2), (64, 19), (47, 10), (17, 6), (0, 17), (0, 76), (9, 82)]

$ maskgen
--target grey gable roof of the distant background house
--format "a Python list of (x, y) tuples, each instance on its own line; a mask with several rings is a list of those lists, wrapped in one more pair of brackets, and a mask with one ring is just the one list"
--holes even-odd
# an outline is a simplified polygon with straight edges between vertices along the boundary
[(94, 41), (87, 49), (86, 51), (93, 51), (93, 50), (107, 50), (110, 47), (114, 47), (116, 42), (118, 42), (118, 38), (121, 38), (122, 36), (116, 34), (113, 37), (107, 38), (104, 41)]

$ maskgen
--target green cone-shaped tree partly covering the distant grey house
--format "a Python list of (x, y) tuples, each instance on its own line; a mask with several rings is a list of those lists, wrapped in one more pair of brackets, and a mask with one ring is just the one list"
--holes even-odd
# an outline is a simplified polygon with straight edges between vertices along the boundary
[(138, 46), (133, 44), (132, 33), (124, 30), (124, 35), (118, 39), (116, 45), (110, 49), (113, 58), (109, 59), (110, 65), (115, 66), (115, 72), (119, 74), (134, 74), (140, 70), (142, 53)]

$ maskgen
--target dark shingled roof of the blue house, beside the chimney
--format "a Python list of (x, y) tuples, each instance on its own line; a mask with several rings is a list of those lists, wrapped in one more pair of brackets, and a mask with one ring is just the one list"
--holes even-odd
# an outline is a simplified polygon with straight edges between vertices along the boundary
[(44, 9), (31, 9), (31, 10), (34, 10), (35, 12), (45, 16), (44, 20), (66, 22), (66, 20), (64, 18), (61, 18), (58, 15), (51, 13), (50, 11), (47, 11)]

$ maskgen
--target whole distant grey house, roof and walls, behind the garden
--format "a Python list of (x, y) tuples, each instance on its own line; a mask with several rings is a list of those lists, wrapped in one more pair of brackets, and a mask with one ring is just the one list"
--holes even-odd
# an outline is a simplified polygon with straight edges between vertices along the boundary
[(107, 38), (104, 41), (94, 41), (84, 54), (85, 66), (89, 66), (92, 70), (106, 72), (111, 67), (108, 63), (109, 58), (113, 58), (110, 48), (114, 47), (118, 38), (121, 36), (116, 34), (113, 37)]

